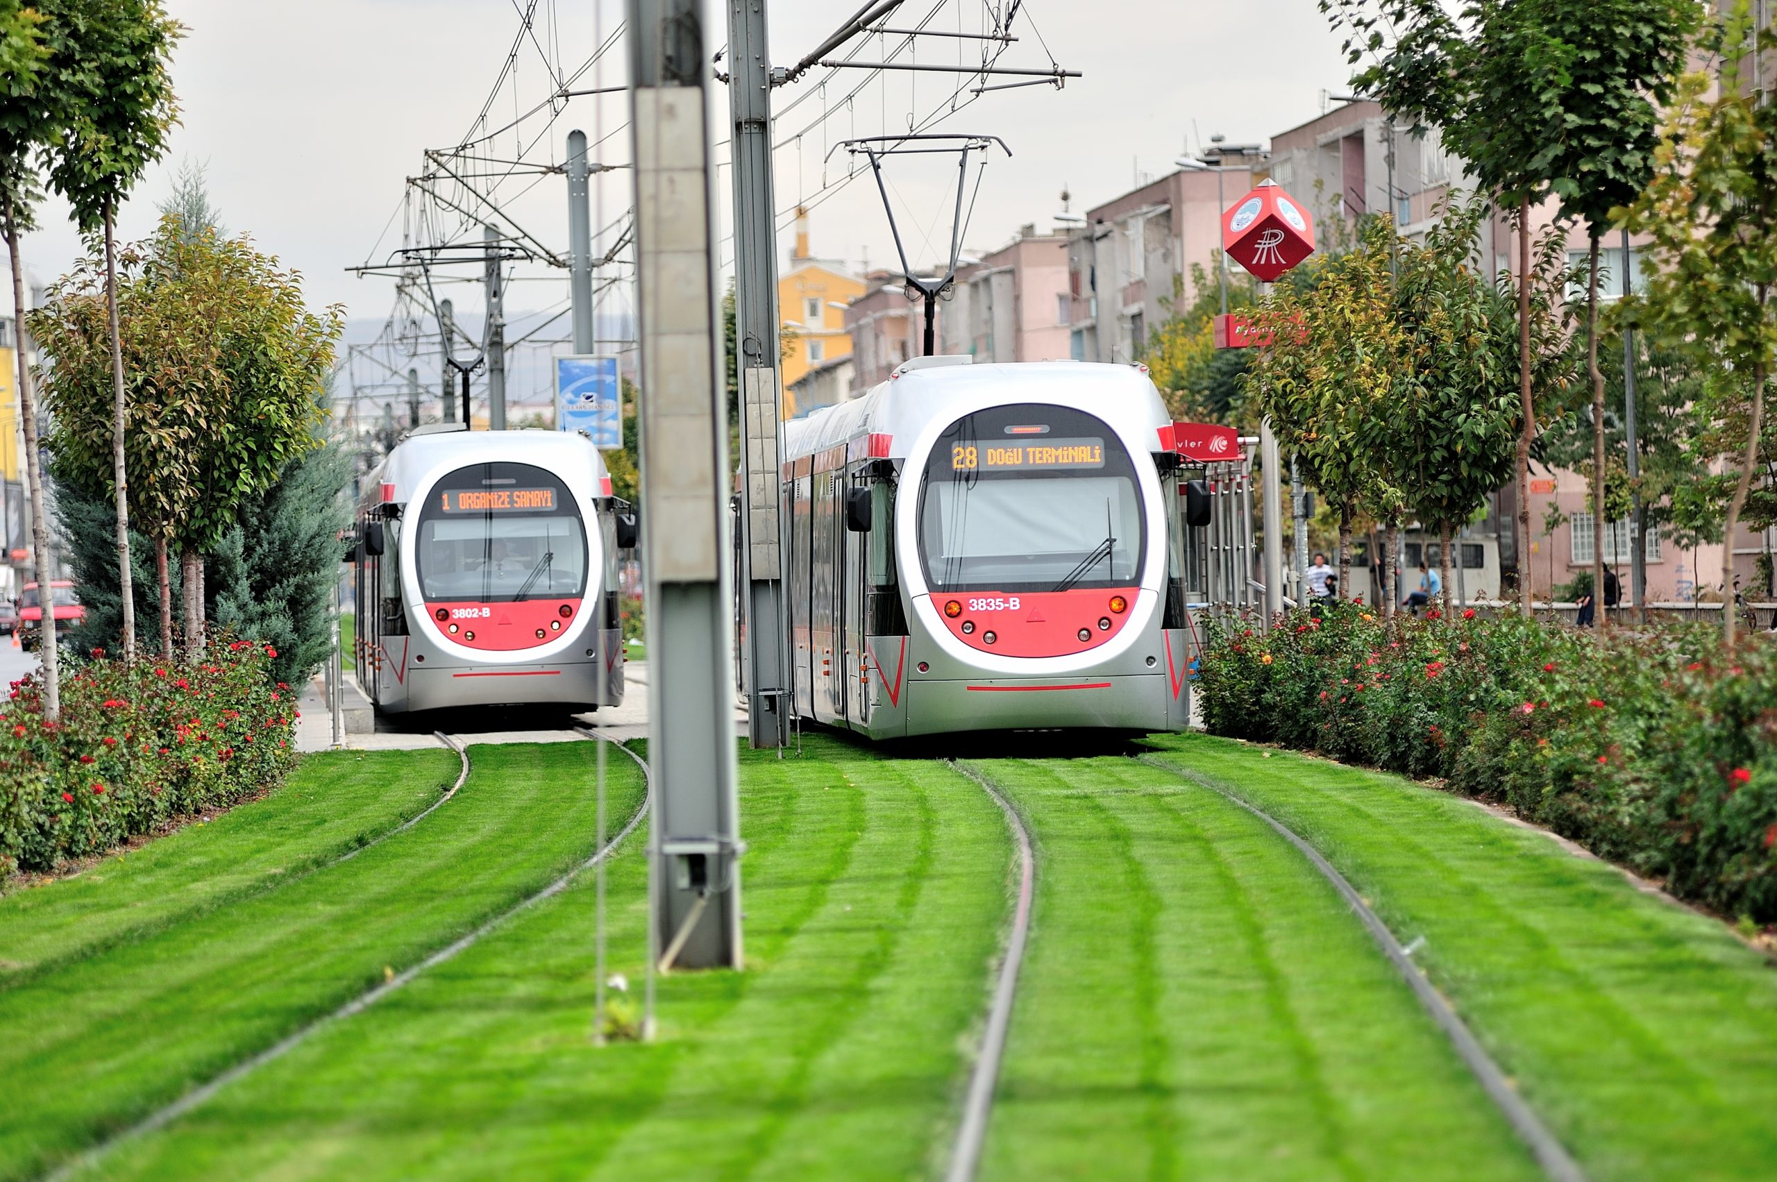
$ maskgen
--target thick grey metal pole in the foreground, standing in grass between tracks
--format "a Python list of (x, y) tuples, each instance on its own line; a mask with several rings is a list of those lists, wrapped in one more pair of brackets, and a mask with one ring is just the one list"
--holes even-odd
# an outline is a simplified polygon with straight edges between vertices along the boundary
[(741, 967), (729, 597), (727, 396), (716, 309), (714, 169), (702, 0), (629, 0), (631, 144), (649, 579), (654, 947)]

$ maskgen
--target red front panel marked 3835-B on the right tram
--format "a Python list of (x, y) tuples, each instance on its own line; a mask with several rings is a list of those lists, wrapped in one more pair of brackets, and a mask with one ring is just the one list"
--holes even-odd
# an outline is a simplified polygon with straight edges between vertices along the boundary
[(1136, 610), (1136, 592), (1134, 587), (1112, 587), (935, 594), (931, 604), (951, 635), (970, 649), (995, 656), (1072, 656), (1123, 631)]

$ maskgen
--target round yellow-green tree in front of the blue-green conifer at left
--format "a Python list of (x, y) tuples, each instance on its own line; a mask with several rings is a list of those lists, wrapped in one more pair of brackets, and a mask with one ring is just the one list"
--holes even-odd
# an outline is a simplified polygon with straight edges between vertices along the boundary
[[(108, 272), (107, 260), (107, 272)], [(332, 368), (341, 311), (311, 315), (293, 272), (247, 238), (187, 235), (176, 217), (123, 252), (121, 347), (130, 355), (128, 462), (151, 480), (130, 489), (144, 528), (181, 553), (185, 642), (203, 649), (203, 555), (299, 455), (316, 446), (318, 393)], [(60, 471), (87, 489), (112, 485), (110, 366), (103, 315), (108, 274), (85, 260), (32, 313), (32, 331), (55, 361), (46, 395), (55, 409)], [(126, 555), (128, 547), (119, 547)], [(121, 619), (131, 592), (119, 590)]]

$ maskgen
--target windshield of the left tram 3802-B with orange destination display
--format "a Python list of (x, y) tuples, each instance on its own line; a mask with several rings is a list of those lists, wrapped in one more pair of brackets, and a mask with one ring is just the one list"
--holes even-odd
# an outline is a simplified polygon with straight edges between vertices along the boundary
[(530, 464), (444, 476), (414, 542), (426, 601), (574, 599), (586, 590), (586, 531), (572, 494)]

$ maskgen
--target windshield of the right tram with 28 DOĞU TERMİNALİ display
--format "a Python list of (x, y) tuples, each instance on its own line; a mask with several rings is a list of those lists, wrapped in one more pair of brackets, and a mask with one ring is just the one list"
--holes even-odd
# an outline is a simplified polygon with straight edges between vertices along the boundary
[(1105, 423), (1066, 407), (952, 423), (926, 462), (919, 521), (935, 592), (1130, 587), (1141, 572), (1134, 464)]

